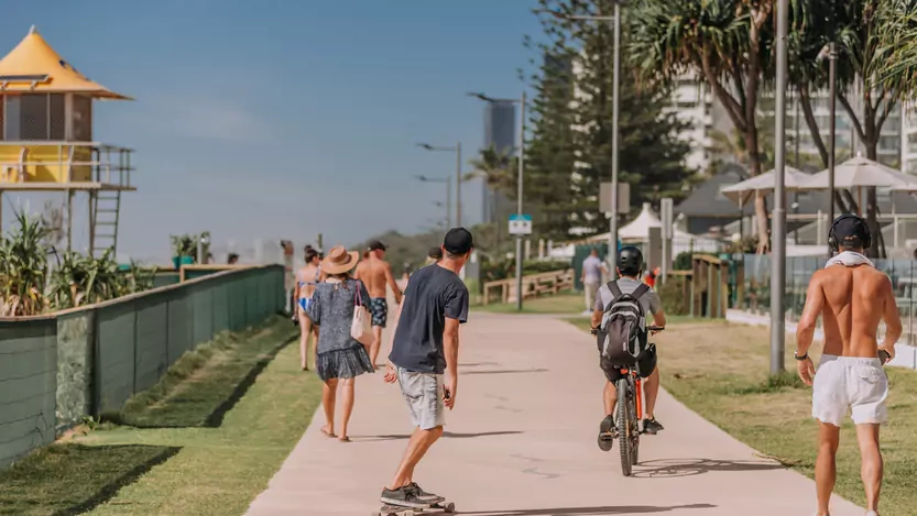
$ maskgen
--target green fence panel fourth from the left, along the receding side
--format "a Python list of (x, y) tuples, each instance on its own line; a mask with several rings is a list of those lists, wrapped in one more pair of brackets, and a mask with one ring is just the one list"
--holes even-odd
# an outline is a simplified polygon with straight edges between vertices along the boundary
[(137, 299), (134, 393), (159, 382), (168, 367), (168, 298), (162, 294)]

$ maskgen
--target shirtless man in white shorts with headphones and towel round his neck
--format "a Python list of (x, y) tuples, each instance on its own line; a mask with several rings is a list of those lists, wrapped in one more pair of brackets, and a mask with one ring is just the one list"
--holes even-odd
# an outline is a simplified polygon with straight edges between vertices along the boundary
[[(866, 491), (866, 516), (878, 516), (883, 462), (878, 449), (878, 427), (887, 422), (885, 398), (888, 378), (882, 370), (880, 350), (895, 356), (895, 342), (902, 321), (888, 276), (876, 271), (864, 255), (870, 246), (866, 222), (854, 215), (842, 215), (831, 224), (828, 242), (837, 254), (817, 271), (806, 294), (806, 306), (796, 332), (796, 360), (799, 377), (812, 386), (812, 417), (819, 421), (818, 459), (815, 480), (818, 516), (829, 515), (828, 503), (834, 490), (841, 419), (850, 411), (856, 425)], [(821, 316), (825, 349), (818, 367), (808, 356)], [(885, 321), (885, 338), (878, 345), (876, 332)]]

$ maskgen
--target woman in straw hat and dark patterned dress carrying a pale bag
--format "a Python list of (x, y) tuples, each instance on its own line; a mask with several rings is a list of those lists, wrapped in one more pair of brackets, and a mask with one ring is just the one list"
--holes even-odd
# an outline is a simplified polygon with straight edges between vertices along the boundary
[(308, 306), (309, 319), (320, 328), (316, 371), (325, 382), (321, 404), (325, 407), (326, 425), (321, 431), (328, 437), (335, 437), (335, 399), (340, 383), (343, 398), (341, 441), (350, 440), (347, 437), (347, 424), (353, 411), (354, 378), (375, 371), (365, 347), (350, 336), (353, 307), (363, 299), (367, 300), (367, 307), (372, 305), (368, 303), (370, 296), (363, 283), (350, 277), (350, 271), (357, 266), (359, 257), (359, 253), (347, 252), (342, 245), (331, 248), (328, 257), (321, 261), (321, 273), (326, 279), (316, 286)]

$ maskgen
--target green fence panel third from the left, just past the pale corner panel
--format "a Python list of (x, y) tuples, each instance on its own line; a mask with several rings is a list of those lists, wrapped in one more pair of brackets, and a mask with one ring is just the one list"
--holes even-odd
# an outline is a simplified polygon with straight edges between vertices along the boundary
[(134, 393), (137, 310), (133, 301), (96, 309), (96, 410), (118, 410)]

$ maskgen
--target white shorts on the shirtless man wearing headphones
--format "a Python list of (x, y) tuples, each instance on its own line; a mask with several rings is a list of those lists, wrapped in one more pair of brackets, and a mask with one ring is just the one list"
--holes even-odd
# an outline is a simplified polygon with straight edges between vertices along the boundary
[(888, 422), (888, 376), (878, 359), (821, 355), (812, 384), (812, 417), (841, 426), (848, 413), (855, 425)]

